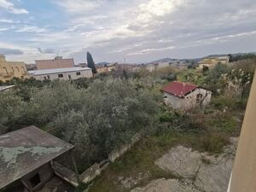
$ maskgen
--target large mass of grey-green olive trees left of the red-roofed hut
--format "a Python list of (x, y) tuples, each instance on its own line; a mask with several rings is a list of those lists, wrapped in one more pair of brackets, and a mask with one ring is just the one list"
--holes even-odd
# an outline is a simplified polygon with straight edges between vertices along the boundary
[(4, 92), (0, 95), (1, 133), (26, 125), (54, 129), (76, 146), (85, 167), (154, 123), (160, 96), (147, 81), (95, 79), (87, 88), (81, 81), (32, 86), (24, 90), (26, 100), (17, 94), (19, 90)]

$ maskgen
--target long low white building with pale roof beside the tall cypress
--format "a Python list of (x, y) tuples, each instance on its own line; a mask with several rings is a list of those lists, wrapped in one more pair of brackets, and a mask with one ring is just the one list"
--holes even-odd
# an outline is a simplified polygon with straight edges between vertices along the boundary
[(67, 67), (55, 69), (42, 69), (29, 72), (31, 76), (38, 80), (46, 79), (79, 79), (91, 78), (92, 72), (89, 67)]

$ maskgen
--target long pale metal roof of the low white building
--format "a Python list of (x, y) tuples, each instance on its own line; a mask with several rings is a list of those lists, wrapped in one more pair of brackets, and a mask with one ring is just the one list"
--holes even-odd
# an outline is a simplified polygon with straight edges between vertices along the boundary
[(43, 75), (43, 74), (51, 74), (51, 73), (67, 73), (67, 72), (79, 72), (79, 71), (87, 71), (91, 70), (89, 67), (67, 67), (67, 68), (54, 68), (54, 69), (41, 69), (30, 71), (29, 73), (33, 75)]

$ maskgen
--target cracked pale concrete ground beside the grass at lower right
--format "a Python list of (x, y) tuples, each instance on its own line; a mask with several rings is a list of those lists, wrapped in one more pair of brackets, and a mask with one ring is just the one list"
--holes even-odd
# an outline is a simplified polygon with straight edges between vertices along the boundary
[(225, 192), (235, 160), (237, 142), (237, 137), (230, 138), (230, 145), (224, 147), (224, 153), (214, 156), (183, 146), (172, 148), (155, 164), (179, 179), (154, 180), (131, 192)]

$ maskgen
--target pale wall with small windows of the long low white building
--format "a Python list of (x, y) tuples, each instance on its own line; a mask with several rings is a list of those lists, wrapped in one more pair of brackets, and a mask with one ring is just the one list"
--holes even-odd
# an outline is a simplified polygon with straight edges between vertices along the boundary
[[(77, 73), (80, 73), (80, 75), (77, 75)], [(63, 74), (63, 78), (59, 78), (58, 75)], [(44, 79), (69, 79), (69, 75), (71, 79), (79, 79), (79, 78), (91, 78), (92, 72), (91, 70), (81, 70), (77, 72), (65, 72), (65, 73), (49, 73), (49, 74), (42, 74), (42, 75), (34, 75), (33, 77), (38, 80), (44, 80)]]

